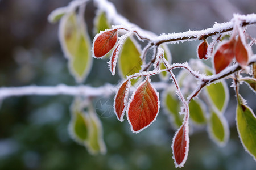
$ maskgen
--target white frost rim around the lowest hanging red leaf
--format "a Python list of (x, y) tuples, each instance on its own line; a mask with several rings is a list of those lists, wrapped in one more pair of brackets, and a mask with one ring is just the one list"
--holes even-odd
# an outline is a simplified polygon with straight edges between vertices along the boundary
[[(185, 146), (185, 156), (184, 156), (184, 159), (183, 161), (180, 163), (180, 164), (177, 164), (176, 162), (176, 159), (174, 157), (174, 141), (175, 141), (175, 138), (178, 134), (178, 132), (180, 131), (180, 129), (182, 128), (182, 126), (184, 125), (184, 130), (185, 130), (185, 141), (187, 141), (187, 146)], [(184, 116), (184, 121), (183, 121), (183, 124), (180, 126), (180, 128), (175, 132), (174, 134), (174, 137), (172, 138), (172, 159), (174, 159), (174, 164), (175, 164), (175, 167), (183, 167), (185, 162), (187, 161), (187, 158), (188, 158), (188, 151), (189, 151), (189, 126), (188, 126), (188, 120), (185, 119), (185, 116)]]

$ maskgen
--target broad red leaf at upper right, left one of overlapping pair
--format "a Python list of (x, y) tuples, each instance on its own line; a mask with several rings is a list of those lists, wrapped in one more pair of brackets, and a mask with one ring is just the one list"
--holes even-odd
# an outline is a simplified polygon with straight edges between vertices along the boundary
[(214, 54), (214, 67), (216, 74), (230, 65), (234, 58), (234, 39), (220, 45)]

